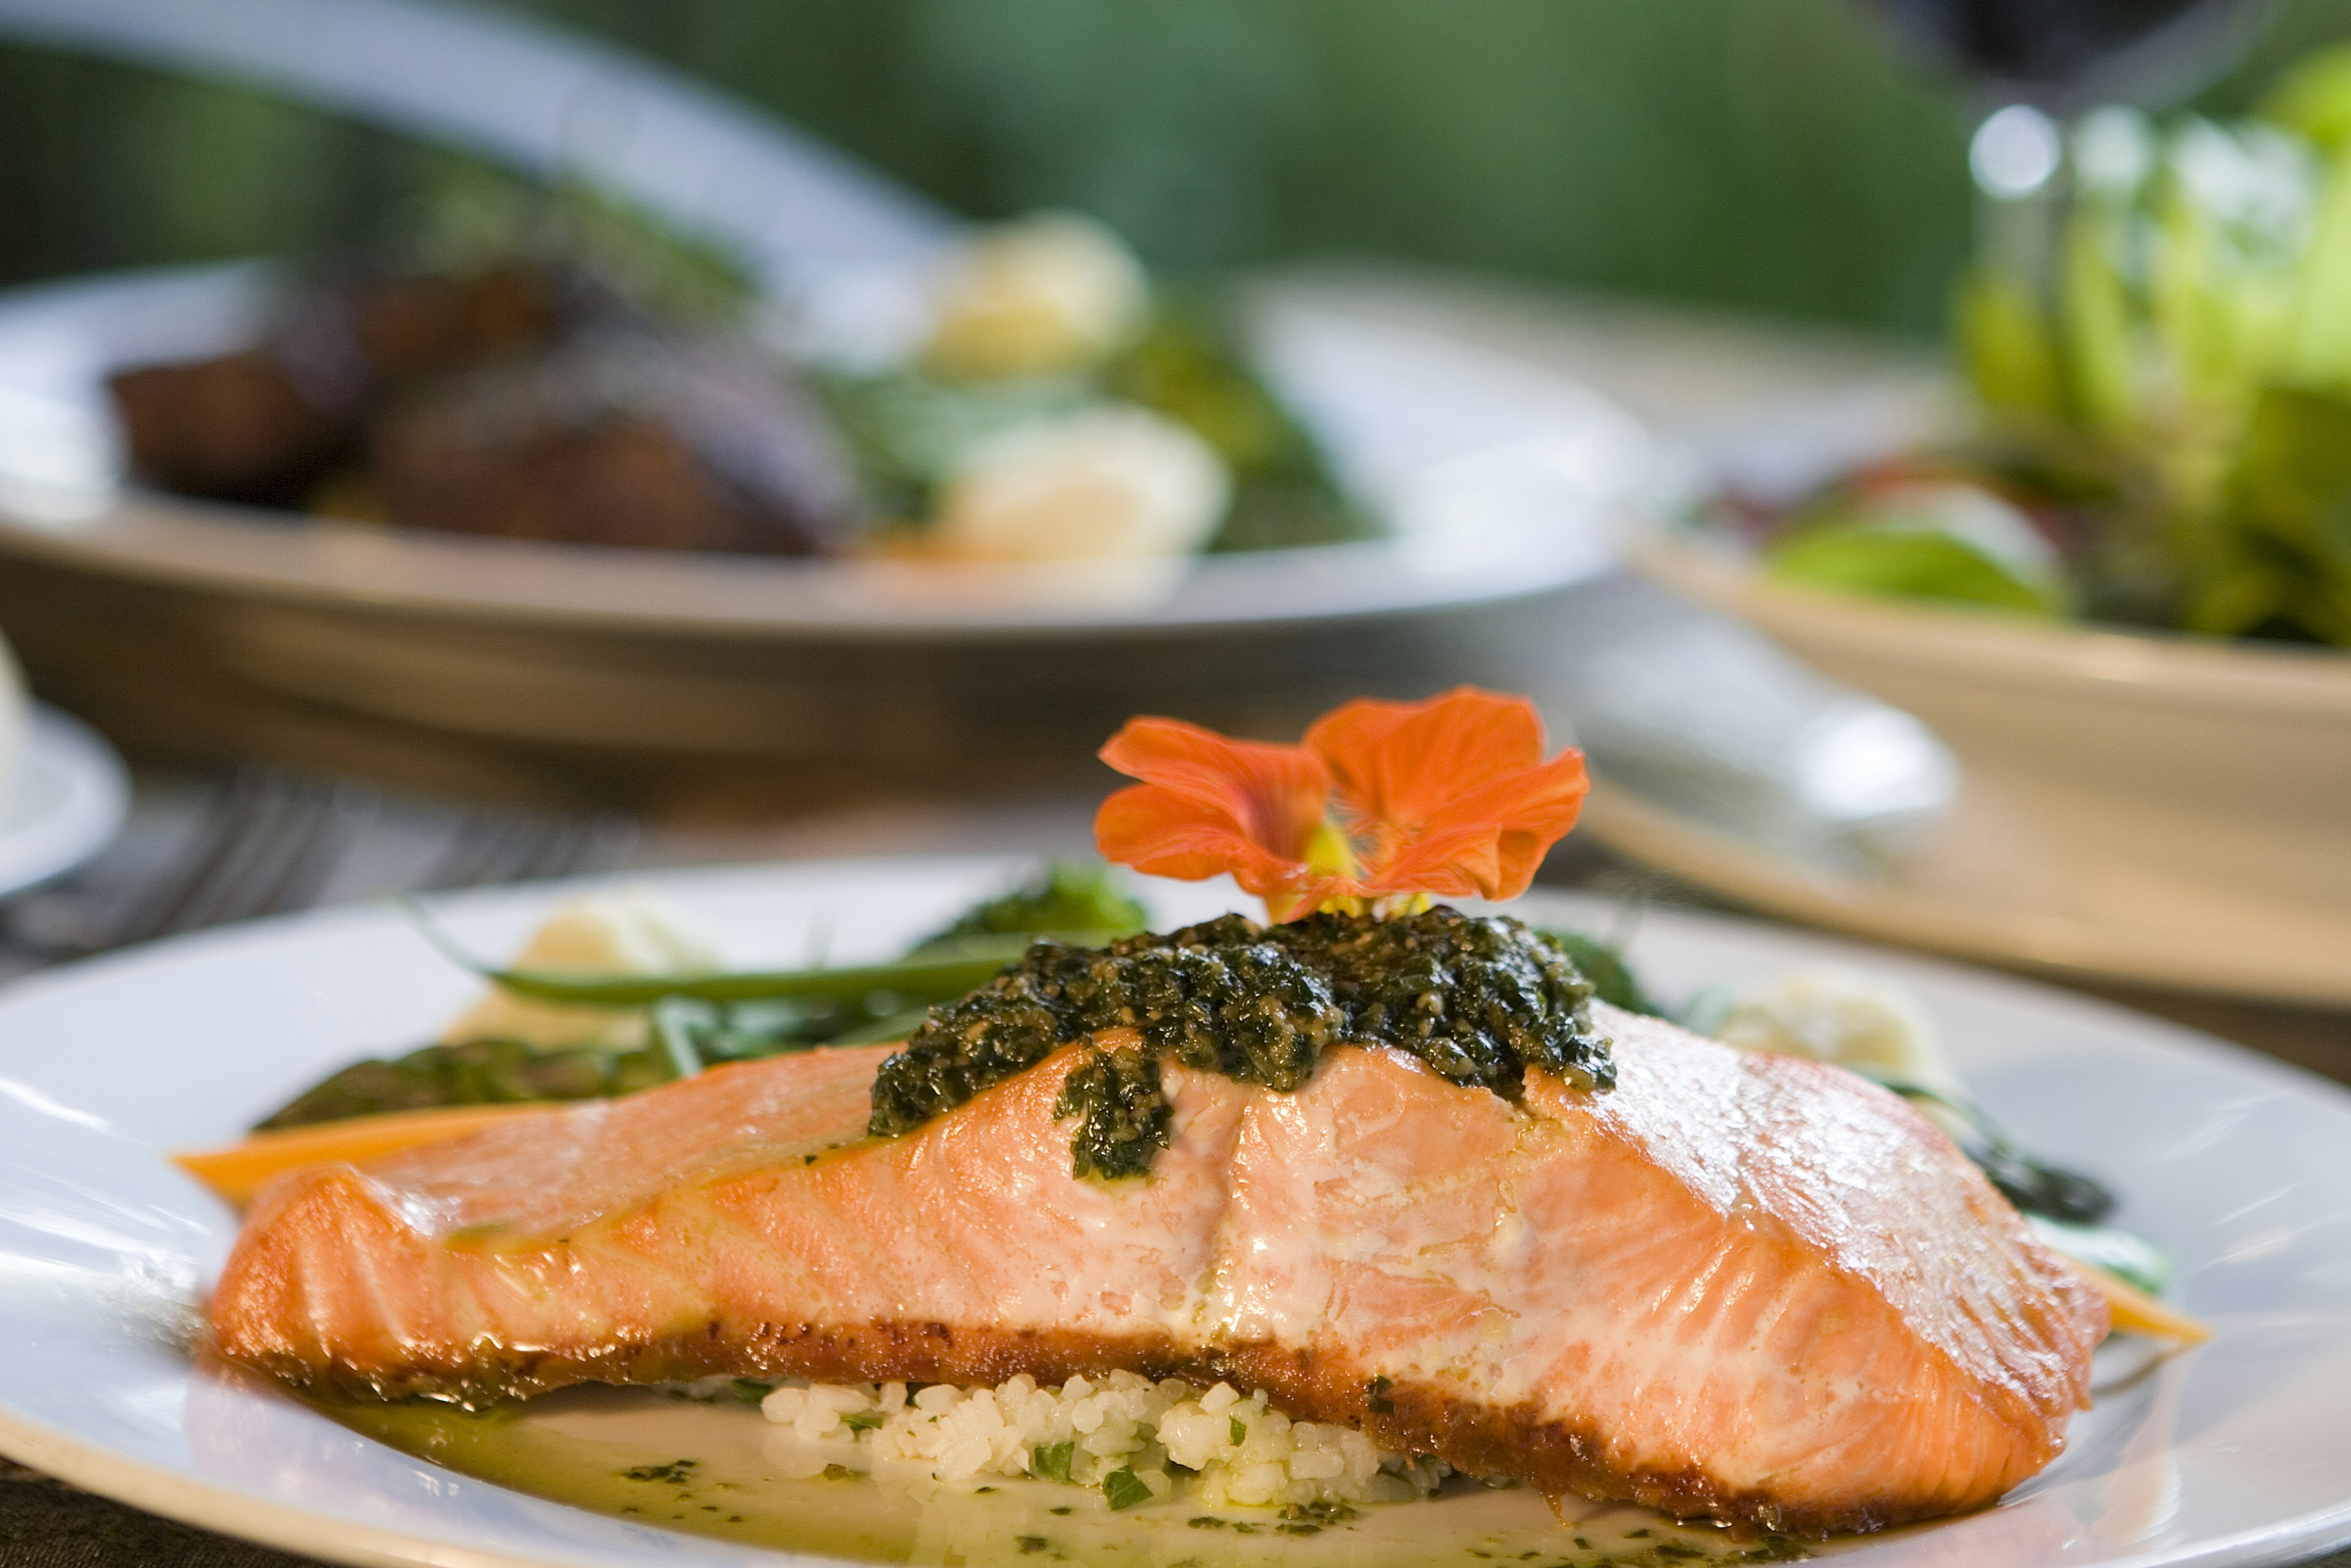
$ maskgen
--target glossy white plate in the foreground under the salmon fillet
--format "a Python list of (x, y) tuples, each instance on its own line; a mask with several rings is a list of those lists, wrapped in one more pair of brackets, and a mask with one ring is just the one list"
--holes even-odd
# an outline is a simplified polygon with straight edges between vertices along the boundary
[[(1004, 860), (656, 877), (731, 938), (795, 959), (816, 931), (882, 954), (1002, 886)], [(442, 905), (513, 947), (548, 889)], [(1159, 922), (1225, 905), (1154, 886)], [(1526, 914), (1603, 929), (1603, 905)], [(1815, 936), (1648, 914), (1667, 994), (1843, 959), (1911, 983), (1968, 1081), (2034, 1147), (2125, 1194), (2179, 1253), (2217, 1338), (2106, 1392), (2001, 1507), (1862, 1544), (1871, 1568), (2280, 1561), (2351, 1540), (2351, 1093), (2208, 1037), (2020, 980)], [(752, 1566), (752, 1547), (585, 1514), (411, 1460), (245, 1385), (190, 1375), (183, 1333), (233, 1237), (162, 1150), (233, 1138), (322, 1070), (426, 1037), (470, 994), (397, 917), (339, 910), (181, 938), (0, 997), (0, 1450), (127, 1502), (350, 1563)]]

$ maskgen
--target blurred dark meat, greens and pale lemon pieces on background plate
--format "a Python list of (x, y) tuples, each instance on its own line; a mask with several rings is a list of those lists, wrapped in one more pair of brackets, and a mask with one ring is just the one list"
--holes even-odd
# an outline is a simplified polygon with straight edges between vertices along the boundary
[(752, 329), (741, 273), (592, 193), (473, 181), (395, 266), (110, 378), (167, 491), (496, 538), (922, 559), (1173, 557), (1371, 531), (1220, 301), (1107, 228), (978, 230), (886, 362)]

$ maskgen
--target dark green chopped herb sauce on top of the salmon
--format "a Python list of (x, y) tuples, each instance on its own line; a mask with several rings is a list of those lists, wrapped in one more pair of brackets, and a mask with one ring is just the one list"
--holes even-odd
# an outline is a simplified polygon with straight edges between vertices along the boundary
[(870, 1131), (912, 1131), (1058, 1046), (1126, 1027), (1140, 1051), (1096, 1048), (1063, 1084), (1079, 1175), (1143, 1175), (1168, 1143), (1159, 1063), (1291, 1091), (1324, 1048), (1411, 1051), (1439, 1077), (1516, 1100), (1528, 1067), (1613, 1088), (1592, 985), (1540, 931), (1451, 907), (1373, 919), (1239, 914), (1110, 947), (1037, 943), (973, 994), (931, 1009), (875, 1079)]

